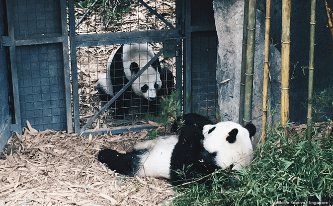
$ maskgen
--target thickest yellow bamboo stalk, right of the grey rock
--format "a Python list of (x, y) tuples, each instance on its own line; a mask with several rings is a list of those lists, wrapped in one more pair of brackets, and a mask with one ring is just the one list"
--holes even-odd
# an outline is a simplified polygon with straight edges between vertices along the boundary
[(282, 0), (281, 34), (281, 126), (288, 139), (289, 120), (289, 66), (290, 66), (290, 0)]

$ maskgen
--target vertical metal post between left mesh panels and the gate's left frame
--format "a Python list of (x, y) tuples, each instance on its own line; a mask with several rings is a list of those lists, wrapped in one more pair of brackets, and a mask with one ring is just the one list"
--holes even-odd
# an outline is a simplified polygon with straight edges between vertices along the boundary
[(66, 117), (67, 117), (67, 132), (73, 132), (72, 118), (72, 100), (71, 100), (71, 79), (70, 79), (70, 60), (68, 54), (68, 30), (67, 30), (67, 11), (66, 0), (61, 0), (61, 28), (62, 28), (62, 43), (63, 43), (63, 60), (64, 60), (64, 84), (65, 84), (65, 99), (66, 99)]

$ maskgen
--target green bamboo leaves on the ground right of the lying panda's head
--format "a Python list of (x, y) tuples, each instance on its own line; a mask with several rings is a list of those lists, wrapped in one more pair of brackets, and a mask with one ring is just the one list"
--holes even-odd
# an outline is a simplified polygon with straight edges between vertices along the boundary
[(216, 171), (209, 176), (213, 183), (209, 189), (193, 182), (181, 188), (182, 194), (171, 205), (270, 206), (277, 201), (308, 202), (310, 197), (329, 201), (333, 196), (333, 136), (310, 144), (298, 135), (279, 146), (276, 140), (281, 135), (278, 130), (268, 131), (247, 168)]

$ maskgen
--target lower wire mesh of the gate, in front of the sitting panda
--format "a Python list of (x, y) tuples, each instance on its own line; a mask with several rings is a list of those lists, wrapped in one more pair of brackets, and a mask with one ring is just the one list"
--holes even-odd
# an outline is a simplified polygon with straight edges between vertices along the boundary
[[(131, 44), (135, 49), (139, 44)], [(153, 43), (153, 44), (140, 44), (142, 49), (146, 50), (147, 45), (152, 49), (154, 54), (157, 54), (162, 49), (161, 43)], [(143, 46), (144, 45), (144, 46)], [(126, 44), (125, 44), (126, 46)], [(126, 82), (128, 82), (129, 78), (126, 77), (124, 73), (125, 71), (129, 71), (130, 68), (126, 67), (126, 64), (123, 64), (123, 60), (115, 59), (112, 57), (117, 57), (119, 55), (119, 49), (123, 47), (122, 45), (112, 45), (112, 46), (97, 46), (97, 47), (80, 47), (77, 50), (78, 57), (78, 83), (79, 83), (79, 103), (80, 103), (80, 119), (81, 125), (84, 125), (92, 116), (94, 116), (106, 103), (109, 101), (114, 94), (116, 94)], [(118, 54), (116, 55), (118, 51)], [(126, 55), (130, 53), (131, 50), (124, 51)], [(147, 53), (147, 51), (146, 51)], [(128, 54), (133, 55), (132, 58), (127, 61), (136, 62), (140, 69), (142, 69), (151, 59), (147, 58), (146, 54), (138, 54), (139, 56), (135, 57), (136, 53)], [(140, 56), (141, 55), (141, 56)], [(119, 56), (118, 56), (119, 57)], [(139, 59), (138, 59), (139, 58)], [(122, 67), (111, 67), (110, 64), (112, 60), (115, 64), (123, 64)], [(109, 67), (108, 67), (109, 63)], [(155, 88), (155, 82), (161, 79), (162, 72), (175, 71), (175, 58), (170, 58), (164, 60), (163, 56), (159, 58), (159, 69), (155, 74), (155, 70), (151, 67), (148, 69), (149, 71), (144, 72), (141, 76), (135, 81), (133, 85), (131, 85), (125, 92), (116, 100), (114, 104), (112, 104), (106, 111), (102, 113), (100, 119), (95, 121), (91, 128), (95, 128), (99, 125), (104, 125), (107, 127), (116, 127), (121, 125), (127, 125), (127, 123), (132, 123), (133, 121), (140, 121), (145, 118), (150, 118), (154, 116), (158, 116), (161, 113), (161, 105), (160, 100), (161, 96), (165, 95), (165, 92), (162, 91), (161, 83), (157, 83), (157, 98), (149, 99), (148, 96), (145, 96), (145, 93), (149, 93), (152, 91), (145, 91), (141, 87), (145, 85), (149, 85)], [(111, 70), (111, 71), (110, 71)], [(161, 72), (162, 71), (162, 72)], [(110, 73), (113, 72), (113, 73)], [(107, 75), (107, 77), (106, 77)], [(111, 77), (117, 78), (116, 82), (111, 81)], [(132, 75), (132, 73), (131, 73)], [(174, 74), (172, 73), (174, 76)], [(169, 77), (173, 85), (174, 78), (173, 76)], [(119, 79), (123, 79), (119, 81)], [(112, 94), (101, 94), (98, 92), (98, 82), (105, 81), (107, 84), (103, 87), (105, 91), (112, 90)], [(100, 85), (101, 87), (101, 85)], [(112, 95), (112, 96), (111, 96)], [(102, 126), (100, 126), (102, 127)]]

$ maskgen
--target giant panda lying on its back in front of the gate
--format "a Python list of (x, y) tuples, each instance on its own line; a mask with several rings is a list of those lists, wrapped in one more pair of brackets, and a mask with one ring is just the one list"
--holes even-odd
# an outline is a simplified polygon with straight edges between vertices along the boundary
[(185, 125), (179, 135), (139, 143), (125, 154), (103, 148), (98, 160), (124, 175), (164, 178), (180, 185), (219, 168), (247, 166), (252, 158), (250, 137), (255, 130), (252, 124), (242, 127), (234, 122), (205, 125), (202, 131)]

